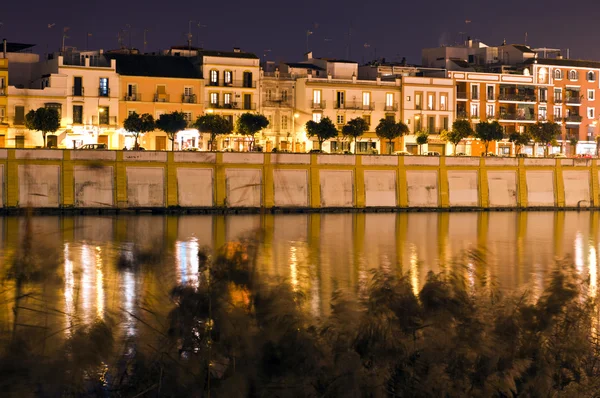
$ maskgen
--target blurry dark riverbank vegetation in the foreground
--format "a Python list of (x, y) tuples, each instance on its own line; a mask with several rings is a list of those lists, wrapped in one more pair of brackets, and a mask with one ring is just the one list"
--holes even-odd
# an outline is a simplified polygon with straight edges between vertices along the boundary
[[(31, 242), (26, 244), (31, 244)], [(593, 397), (600, 391), (596, 287), (558, 262), (536, 294), (500, 294), (477, 253), (430, 273), (373, 271), (315, 319), (285, 281), (256, 272), (256, 245), (198, 253), (197, 281), (171, 291), (153, 338), (116, 344), (115, 321), (74, 328), (62, 347), (21, 328), (0, 356), (4, 396)], [(123, 258), (135, 272), (162, 254)], [(21, 258), (21, 257), (19, 257)], [(137, 260), (136, 260), (137, 259)], [(23, 267), (23, 265), (19, 265)], [(14, 269), (12, 271), (15, 272)], [(16, 303), (18, 306), (18, 302)], [(42, 335), (44, 333), (44, 335)], [(34, 344), (35, 342), (35, 344)]]

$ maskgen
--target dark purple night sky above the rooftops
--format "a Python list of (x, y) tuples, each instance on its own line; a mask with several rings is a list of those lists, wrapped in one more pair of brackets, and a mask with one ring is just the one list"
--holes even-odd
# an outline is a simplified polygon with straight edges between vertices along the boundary
[[(463, 1), (183, 1), (183, 0), (4, 0), (0, 37), (37, 44), (38, 53), (58, 50), (63, 28), (65, 45), (83, 49), (87, 33), (91, 49), (118, 48), (123, 43), (147, 51), (187, 43), (192, 23), (193, 45), (230, 50), (240, 47), (262, 59), (301, 60), (309, 48), (317, 57), (375, 57), (420, 62), (423, 47), (454, 44), (467, 36), (490, 45), (525, 42), (534, 47), (569, 48), (571, 58), (600, 59), (600, 2), (580, 0)], [(465, 23), (465, 21), (470, 23)], [(198, 22), (203, 25), (198, 27)], [(48, 25), (54, 24), (51, 28)], [(131, 28), (127, 28), (127, 26)], [(348, 51), (348, 31), (350, 51)], [(461, 34), (460, 32), (465, 32)]]

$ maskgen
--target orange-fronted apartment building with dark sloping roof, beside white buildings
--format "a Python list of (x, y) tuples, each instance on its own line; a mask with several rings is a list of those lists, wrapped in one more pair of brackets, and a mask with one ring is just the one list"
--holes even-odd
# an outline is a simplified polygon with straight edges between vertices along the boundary
[[(134, 136), (125, 131), (124, 120), (133, 112), (148, 113), (155, 119), (171, 112), (182, 112), (190, 128), (177, 133), (175, 150), (206, 149), (198, 130), (191, 127), (203, 114), (203, 80), (191, 58), (164, 55), (108, 54), (116, 61), (121, 96), (117, 148), (131, 149)], [(171, 149), (167, 135), (156, 130), (145, 134), (140, 145), (149, 150)]]

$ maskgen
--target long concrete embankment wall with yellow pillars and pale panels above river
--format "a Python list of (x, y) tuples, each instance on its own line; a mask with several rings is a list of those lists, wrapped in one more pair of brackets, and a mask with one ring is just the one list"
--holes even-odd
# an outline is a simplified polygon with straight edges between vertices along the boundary
[(0, 207), (589, 208), (597, 160), (0, 149)]

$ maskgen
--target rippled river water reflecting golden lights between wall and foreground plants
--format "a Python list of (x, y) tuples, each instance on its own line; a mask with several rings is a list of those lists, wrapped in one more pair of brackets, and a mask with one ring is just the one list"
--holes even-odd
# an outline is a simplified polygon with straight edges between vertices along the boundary
[[(14, 289), (4, 275), (23, 223), (21, 217), (0, 218), (2, 290)], [(171, 308), (171, 288), (198, 286), (197, 251), (241, 235), (262, 240), (259, 272), (303, 293), (306, 311), (315, 318), (329, 312), (335, 289), (364, 293), (374, 269), (407, 273), (418, 292), (429, 271), (449, 269), (469, 249), (481, 249), (485, 262), (464, 262), (472, 285), (483, 278), (503, 290), (539, 294), (555, 259), (567, 258), (589, 277), (589, 294), (598, 294), (599, 214), (594, 212), (44, 216), (34, 217), (32, 227), (36, 239), (55, 247), (61, 258), (59, 282), (49, 281), (41, 299), (62, 315), (48, 320), (23, 313), (23, 322), (49, 324), (53, 331), (65, 330), (63, 337), (74, 324), (107, 317), (118, 322), (122, 338), (143, 333), (142, 318), (160, 329)], [(138, 268), (117, 266), (119, 258), (134, 260), (136, 248), (161, 249), (162, 258)], [(11, 297), (2, 294), (3, 333), (12, 328)]]

